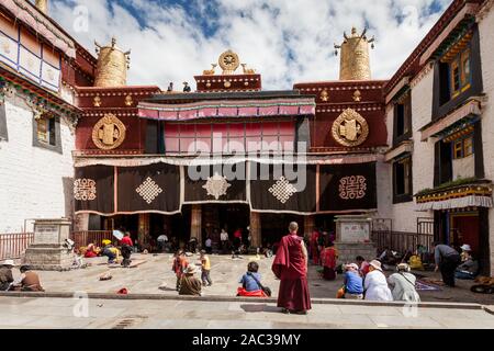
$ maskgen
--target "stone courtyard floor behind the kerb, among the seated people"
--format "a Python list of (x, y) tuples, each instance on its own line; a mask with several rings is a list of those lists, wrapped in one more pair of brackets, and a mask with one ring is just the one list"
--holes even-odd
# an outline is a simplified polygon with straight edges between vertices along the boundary
[[(239, 278), (245, 273), (249, 260), (255, 256), (246, 256), (244, 259), (232, 259), (231, 256), (211, 256), (213, 285), (203, 288), (205, 296), (235, 296)], [(171, 271), (172, 254), (133, 254), (133, 260), (144, 260), (145, 263), (136, 268), (123, 269), (109, 268), (105, 258), (87, 259), (90, 265), (86, 269), (69, 272), (38, 272), (42, 284), (47, 292), (72, 293), (82, 291), (87, 293), (109, 293), (114, 294), (122, 287), (126, 287), (131, 294), (162, 294), (176, 296), (176, 278)], [(197, 263), (199, 256), (189, 257), (189, 262)], [(273, 297), (277, 297), (279, 281), (271, 272), (272, 258), (261, 257), (258, 260), (259, 272), (262, 274), (262, 283), (271, 287)], [(109, 272), (113, 278), (109, 281), (100, 281), (100, 275)], [(392, 272), (386, 272), (391, 274)], [(417, 272), (428, 275), (435, 280), (440, 280), (439, 273)], [(14, 275), (19, 270), (14, 270)], [(166, 283), (166, 288), (159, 288)], [(308, 285), (311, 297), (334, 298), (336, 291), (343, 284), (343, 276), (336, 281), (328, 282), (318, 276), (316, 268), (310, 265)], [(420, 297), (425, 302), (462, 302), (480, 303), (490, 305), (493, 302), (492, 295), (473, 294), (470, 292), (471, 281), (457, 280), (457, 287), (440, 287), (441, 291), (424, 292)]]

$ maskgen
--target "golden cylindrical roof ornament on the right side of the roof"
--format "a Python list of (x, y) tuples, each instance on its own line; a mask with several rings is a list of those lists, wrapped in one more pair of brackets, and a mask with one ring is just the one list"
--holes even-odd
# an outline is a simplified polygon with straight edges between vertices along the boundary
[(367, 29), (358, 34), (357, 29), (351, 29), (351, 35), (344, 33), (344, 42), (341, 45), (335, 44), (335, 55), (341, 49), (339, 79), (340, 80), (370, 80), (370, 59), (369, 44), (374, 48), (375, 38), (368, 39), (366, 36)]

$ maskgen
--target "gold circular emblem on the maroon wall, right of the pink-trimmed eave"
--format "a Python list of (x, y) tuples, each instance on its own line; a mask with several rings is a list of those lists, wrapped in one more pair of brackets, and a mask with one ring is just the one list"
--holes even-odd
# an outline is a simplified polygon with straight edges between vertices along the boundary
[(369, 136), (369, 125), (360, 113), (345, 110), (333, 123), (333, 138), (343, 146), (358, 146)]

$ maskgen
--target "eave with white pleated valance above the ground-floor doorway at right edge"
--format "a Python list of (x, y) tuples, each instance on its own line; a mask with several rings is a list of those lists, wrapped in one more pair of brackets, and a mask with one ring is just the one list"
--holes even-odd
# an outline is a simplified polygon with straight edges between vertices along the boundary
[(492, 207), (492, 183), (481, 180), (437, 188), (415, 195), (418, 211)]

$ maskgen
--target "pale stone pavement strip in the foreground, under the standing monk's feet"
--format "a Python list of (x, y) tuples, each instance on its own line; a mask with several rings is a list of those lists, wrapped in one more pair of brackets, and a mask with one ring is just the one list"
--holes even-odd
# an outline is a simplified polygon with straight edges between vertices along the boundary
[[(481, 309), (314, 304), (306, 316), (284, 315), (276, 304), (201, 301), (89, 299), (87, 316), (74, 298), (0, 297), (0, 328), (271, 329), (271, 328), (494, 328)], [(221, 331), (218, 331), (221, 333)]]

